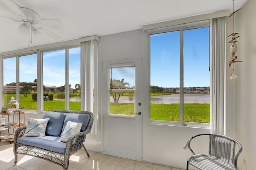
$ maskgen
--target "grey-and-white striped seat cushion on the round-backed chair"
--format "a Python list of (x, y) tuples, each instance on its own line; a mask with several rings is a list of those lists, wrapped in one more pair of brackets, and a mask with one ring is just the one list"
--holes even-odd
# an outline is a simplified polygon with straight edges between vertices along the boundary
[(189, 164), (204, 170), (235, 170), (232, 162), (209, 154), (196, 154), (188, 158)]

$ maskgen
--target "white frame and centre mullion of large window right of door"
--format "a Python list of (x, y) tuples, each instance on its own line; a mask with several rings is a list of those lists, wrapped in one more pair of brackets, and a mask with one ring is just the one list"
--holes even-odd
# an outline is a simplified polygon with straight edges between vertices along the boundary
[[(210, 22), (209, 20), (204, 20), (204, 21), (199, 21), (199, 22), (193, 22), (193, 23), (187, 23), (187, 24), (180, 24), (180, 25), (174, 25), (174, 26), (168, 26), (164, 28), (156, 28), (156, 29), (151, 29), (147, 30), (147, 37), (148, 37), (148, 55), (149, 55), (149, 72), (151, 71), (151, 53), (150, 53), (150, 36), (154, 34), (161, 34), (161, 33), (166, 33), (166, 32), (174, 32), (174, 31), (180, 31), (180, 89), (184, 88), (184, 56), (183, 56), (183, 32), (185, 30), (192, 30), (192, 29), (197, 29), (197, 28), (205, 28), (209, 27), (210, 30)], [(209, 37), (210, 37), (210, 31), (209, 31)], [(210, 52), (210, 39), (209, 39), (209, 52)], [(210, 57), (210, 53), (209, 53)], [(211, 62), (211, 61), (210, 61)], [(149, 76), (150, 79), (150, 76)], [(212, 77), (210, 76), (210, 79)], [(151, 81), (150, 81), (151, 82)], [(151, 85), (151, 83), (149, 83)], [(211, 93), (214, 93), (213, 88), (210, 87)], [(150, 91), (149, 91), (150, 93)], [(184, 107), (184, 93), (183, 90), (180, 91), (180, 105), (182, 104), (182, 107), (180, 107), (180, 121), (175, 122), (175, 121), (158, 121), (158, 120), (151, 120), (150, 115), (150, 94), (149, 94), (149, 116), (148, 116), (148, 123), (152, 125), (171, 125), (171, 126), (183, 126), (183, 127), (198, 127), (198, 128), (210, 128), (210, 123), (192, 123), (192, 122), (184, 122), (184, 113), (183, 113), (183, 107)], [(210, 105), (213, 105), (212, 101), (210, 101)], [(210, 116), (212, 115), (212, 111), (210, 109)]]

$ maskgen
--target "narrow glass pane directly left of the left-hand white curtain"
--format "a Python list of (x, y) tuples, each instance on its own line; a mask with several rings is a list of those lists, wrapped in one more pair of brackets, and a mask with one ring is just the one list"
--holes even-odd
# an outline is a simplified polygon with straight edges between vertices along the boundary
[(68, 51), (69, 73), (69, 109), (80, 110), (81, 108), (81, 81), (80, 81), (80, 47), (71, 48)]

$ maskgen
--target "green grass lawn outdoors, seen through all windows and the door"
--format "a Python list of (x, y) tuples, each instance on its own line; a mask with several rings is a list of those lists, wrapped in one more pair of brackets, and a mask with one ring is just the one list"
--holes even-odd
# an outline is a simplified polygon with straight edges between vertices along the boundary
[[(54, 93), (54, 98), (60, 93)], [(63, 95), (63, 94), (62, 94)], [(76, 95), (76, 94), (74, 94)], [(170, 94), (169, 94), (170, 95)], [(9, 101), (12, 94), (5, 94), (5, 100)], [(16, 98), (16, 95), (14, 95)], [(7, 103), (4, 103), (6, 105)], [(24, 97), (23, 94), (20, 95), (20, 108), (26, 110), (37, 110), (37, 101), (32, 100), (31, 94)], [(51, 111), (54, 109), (64, 109), (65, 101), (44, 101), (44, 111)], [(123, 108), (128, 108), (126, 113), (118, 113), (118, 110)], [(80, 102), (69, 102), (70, 110), (80, 110)], [(114, 110), (115, 109), (115, 110)], [(151, 120), (161, 120), (161, 121), (180, 121), (180, 105), (179, 104), (150, 104), (150, 119)], [(115, 105), (110, 103), (110, 113), (116, 114), (127, 114), (134, 115), (134, 104), (133, 103), (122, 103)], [(210, 123), (210, 104), (184, 104), (184, 121), (187, 122), (198, 122), (198, 123)]]

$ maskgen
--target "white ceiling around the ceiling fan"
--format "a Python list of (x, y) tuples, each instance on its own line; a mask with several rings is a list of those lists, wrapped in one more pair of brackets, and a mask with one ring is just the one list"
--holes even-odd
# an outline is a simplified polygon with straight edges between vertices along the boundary
[[(0, 0), (0, 16), (15, 15)], [(44, 27), (61, 36), (35, 38), (31, 46), (78, 39), (86, 36), (106, 36), (143, 25), (174, 20), (221, 10), (233, 12), (232, 0), (13, 0), (21, 7), (34, 10), (40, 19), (60, 19), (62, 28)], [(235, 0), (235, 10), (246, 0)], [(20, 34), (21, 23), (0, 17), (0, 52), (28, 47), (28, 36)]]

